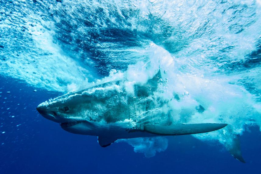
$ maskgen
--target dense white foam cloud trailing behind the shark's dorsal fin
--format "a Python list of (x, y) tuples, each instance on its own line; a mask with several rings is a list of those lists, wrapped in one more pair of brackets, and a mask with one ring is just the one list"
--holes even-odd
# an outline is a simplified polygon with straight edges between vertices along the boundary
[[(163, 93), (158, 93), (163, 100), (171, 100), (168, 102), (169, 110), (173, 120), (176, 123), (226, 123), (229, 126), (219, 131), (205, 134), (193, 135), (202, 140), (218, 140), (221, 143), (226, 142), (227, 136), (242, 134), (248, 124), (260, 125), (260, 106), (255, 101), (255, 95), (250, 94), (244, 87), (231, 84), (238, 75), (211, 75), (201, 74), (202, 71), (193, 71), (192, 74), (183, 73), (175, 66), (175, 57), (169, 54), (163, 48), (151, 44), (150, 49), (153, 53), (150, 55), (150, 64), (157, 64), (161, 68), (161, 72), (166, 81), (166, 88)], [(148, 50), (150, 50), (148, 49)], [(156, 58), (157, 57), (157, 58)], [(138, 63), (130, 66), (130, 72), (134, 67), (136, 70), (142, 69), (146, 63)], [(149, 78), (151, 72), (155, 72), (155, 67), (146, 66), (147, 75), (143, 77)], [(129, 71), (129, 69), (128, 69)], [(127, 75), (131, 75), (127, 73)], [(132, 77), (127, 77), (131, 79)], [(145, 80), (141, 78), (141, 82)], [(155, 93), (157, 95), (157, 93)], [(178, 94), (179, 101), (173, 99)], [(196, 107), (203, 106), (205, 111), (199, 113)], [(166, 108), (165, 108), (166, 109)], [(129, 141), (129, 140), (128, 140)], [(127, 141), (127, 142), (128, 142)], [(142, 143), (133, 145), (139, 149), (143, 147)], [(136, 150), (139, 151), (139, 150)], [(146, 152), (144, 152), (146, 153)]]

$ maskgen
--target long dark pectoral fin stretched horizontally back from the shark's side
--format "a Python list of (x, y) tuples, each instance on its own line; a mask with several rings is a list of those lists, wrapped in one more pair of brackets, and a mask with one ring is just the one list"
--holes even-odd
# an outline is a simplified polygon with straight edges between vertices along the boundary
[(171, 126), (162, 125), (144, 125), (144, 131), (157, 135), (186, 135), (199, 134), (216, 131), (227, 124), (203, 123), (203, 124), (180, 124)]

